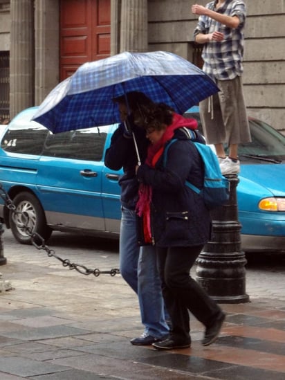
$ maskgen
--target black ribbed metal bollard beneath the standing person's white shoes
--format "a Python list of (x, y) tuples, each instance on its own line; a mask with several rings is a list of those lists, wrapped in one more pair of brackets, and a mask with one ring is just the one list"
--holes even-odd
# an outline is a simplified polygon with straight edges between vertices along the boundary
[(241, 224), (237, 212), (237, 174), (230, 181), (230, 199), (212, 213), (212, 237), (196, 263), (196, 280), (219, 303), (248, 302), (246, 257), (241, 251)]

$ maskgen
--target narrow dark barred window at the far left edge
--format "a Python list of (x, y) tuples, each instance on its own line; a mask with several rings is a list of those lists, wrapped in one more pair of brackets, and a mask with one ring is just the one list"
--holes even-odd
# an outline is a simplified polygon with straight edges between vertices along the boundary
[(0, 124), (10, 118), (10, 69), (9, 52), (0, 51)]

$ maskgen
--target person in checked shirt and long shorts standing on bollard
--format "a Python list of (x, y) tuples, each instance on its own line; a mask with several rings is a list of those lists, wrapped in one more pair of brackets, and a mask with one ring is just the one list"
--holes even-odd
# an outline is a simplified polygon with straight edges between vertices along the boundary
[(241, 80), (246, 5), (242, 0), (214, 0), (205, 7), (194, 4), (192, 13), (199, 15), (194, 41), (204, 44), (203, 71), (221, 90), (200, 102), (203, 132), (215, 146), (222, 174), (237, 174), (239, 143), (251, 141)]

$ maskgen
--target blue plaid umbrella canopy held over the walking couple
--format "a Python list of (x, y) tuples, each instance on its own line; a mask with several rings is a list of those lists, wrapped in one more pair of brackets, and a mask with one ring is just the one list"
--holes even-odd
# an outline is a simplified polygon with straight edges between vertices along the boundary
[(33, 120), (53, 133), (120, 123), (112, 99), (129, 91), (141, 91), (183, 114), (219, 89), (198, 67), (173, 53), (125, 52), (80, 66), (48, 94)]

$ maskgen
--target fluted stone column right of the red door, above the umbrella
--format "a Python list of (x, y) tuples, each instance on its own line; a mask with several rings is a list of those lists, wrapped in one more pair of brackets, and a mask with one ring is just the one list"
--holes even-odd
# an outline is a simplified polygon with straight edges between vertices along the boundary
[(147, 0), (122, 0), (120, 52), (144, 52), (147, 47)]

